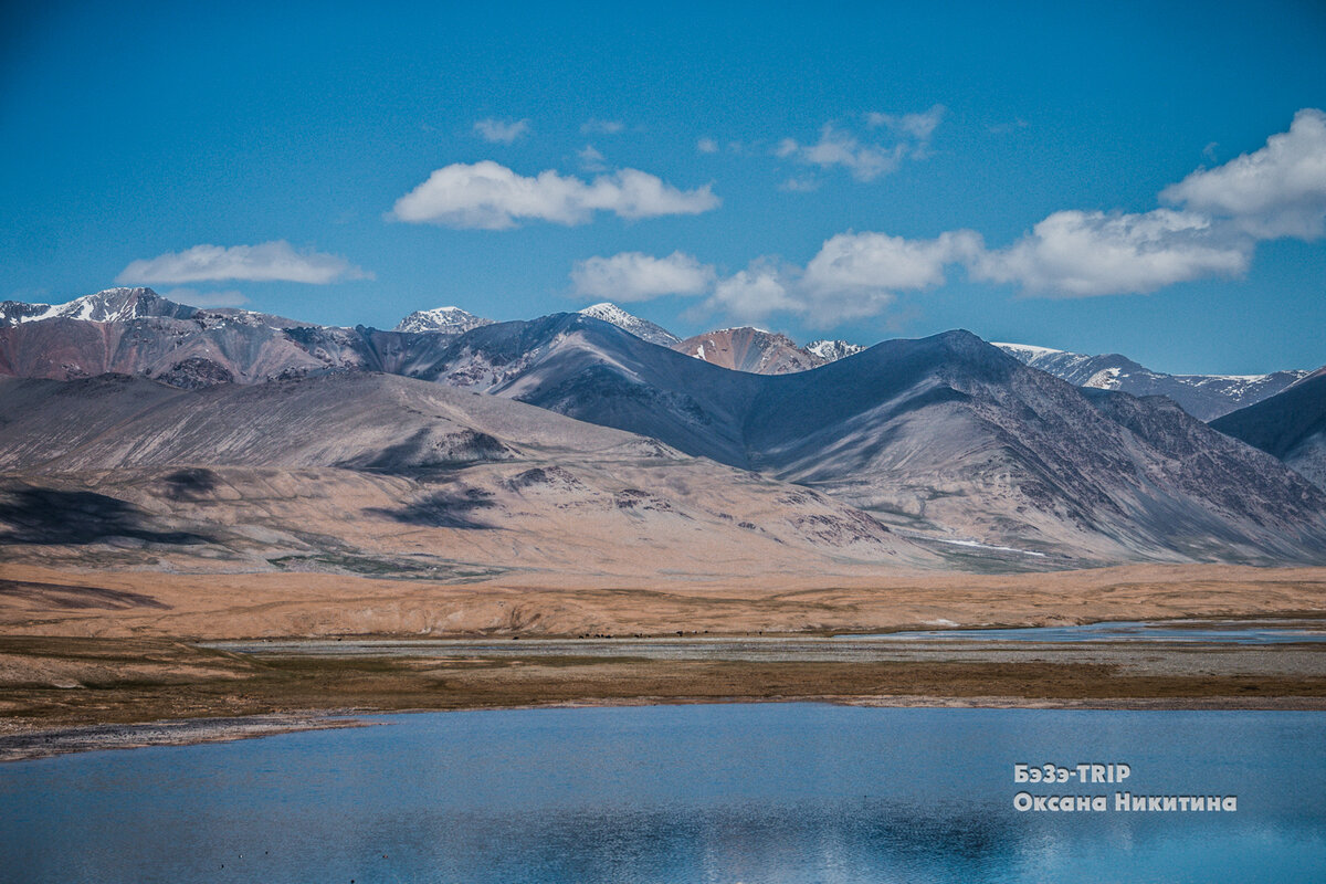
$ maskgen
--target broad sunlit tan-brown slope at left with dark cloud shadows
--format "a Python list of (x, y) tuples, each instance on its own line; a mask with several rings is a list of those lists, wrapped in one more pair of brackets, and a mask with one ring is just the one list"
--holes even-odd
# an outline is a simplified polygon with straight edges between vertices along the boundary
[(0, 414), (11, 562), (444, 580), (941, 562), (823, 494), (406, 378), (8, 379)]

